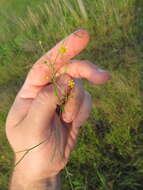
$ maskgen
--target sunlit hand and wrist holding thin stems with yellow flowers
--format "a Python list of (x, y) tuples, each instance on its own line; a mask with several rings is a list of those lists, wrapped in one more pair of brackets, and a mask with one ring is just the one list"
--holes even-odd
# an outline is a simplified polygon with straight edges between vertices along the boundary
[[(63, 42), (67, 51), (54, 61)], [(15, 163), (24, 154), (17, 151), (47, 140), (30, 151), (13, 169), (10, 190), (60, 189), (60, 171), (75, 147), (79, 127), (91, 111), (91, 96), (84, 91), (80, 78), (95, 84), (103, 84), (110, 79), (106, 71), (99, 70), (89, 61), (71, 60), (88, 42), (89, 34), (78, 30), (41, 57), (29, 71), (6, 122), (6, 135), (15, 153)], [(58, 96), (49, 83), (51, 70), (43, 64), (45, 60), (53, 63), (57, 71)], [(71, 78), (75, 81), (72, 89), (68, 86)], [(63, 93), (68, 93), (69, 98), (64, 112), (59, 114), (57, 106), (61, 100), (58, 97)], [(60, 134), (59, 141), (53, 133), (55, 130)], [(56, 153), (55, 148), (59, 150)]]

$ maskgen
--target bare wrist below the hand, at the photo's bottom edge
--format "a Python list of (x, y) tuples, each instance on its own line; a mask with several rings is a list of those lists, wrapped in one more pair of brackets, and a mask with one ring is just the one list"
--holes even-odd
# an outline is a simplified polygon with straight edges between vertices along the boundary
[[(22, 154), (15, 155), (15, 164)], [(23, 159), (13, 169), (10, 190), (60, 190), (60, 173), (44, 170), (44, 164), (31, 163), (31, 158)]]

